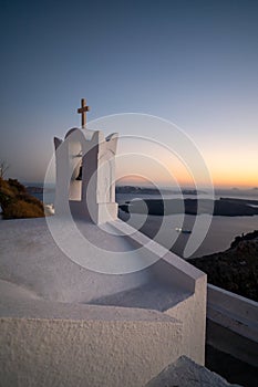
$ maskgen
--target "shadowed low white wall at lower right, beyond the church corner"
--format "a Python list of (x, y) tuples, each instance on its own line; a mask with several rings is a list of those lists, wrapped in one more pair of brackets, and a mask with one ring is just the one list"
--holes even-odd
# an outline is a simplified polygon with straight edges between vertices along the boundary
[(258, 303), (208, 284), (207, 343), (258, 367)]

